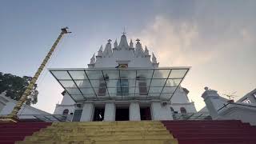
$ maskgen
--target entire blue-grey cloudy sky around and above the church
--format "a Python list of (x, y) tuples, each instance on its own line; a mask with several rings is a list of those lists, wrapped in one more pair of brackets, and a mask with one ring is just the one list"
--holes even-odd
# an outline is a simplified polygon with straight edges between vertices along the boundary
[[(63, 26), (46, 68), (85, 68), (106, 41), (139, 38), (159, 66), (191, 66), (182, 86), (197, 110), (204, 87), (241, 98), (256, 88), (256, 1), (0, 1), (0, 71), (33, 76)], [(34, 107), (53, 113), (62, 87), (46, 69)]]

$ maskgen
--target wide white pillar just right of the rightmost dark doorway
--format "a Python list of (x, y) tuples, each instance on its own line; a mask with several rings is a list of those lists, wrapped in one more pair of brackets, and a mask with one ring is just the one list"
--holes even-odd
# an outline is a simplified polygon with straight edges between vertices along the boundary
[(173, 115), (168, 104), (162, 105), (161, 102), (152, 102), (151, 114), (153, 120), (173, 120)]

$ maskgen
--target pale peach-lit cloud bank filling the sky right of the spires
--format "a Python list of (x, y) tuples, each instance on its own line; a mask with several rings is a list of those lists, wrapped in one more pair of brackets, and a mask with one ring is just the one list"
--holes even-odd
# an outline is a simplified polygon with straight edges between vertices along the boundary
[(255, 78), (255, 30), (249, 24), (240, 26), (235, 22), (208, 24), (158, 15), (134, 34), (154, 52), (160, 66), (192, 66), (182, 86), (190, 90), (189, 96), (198, 110), (204, 106), (204, 86), (218, 90), (219, 94), (238, 90), (241, 96), (254, 87), (250, 83)]

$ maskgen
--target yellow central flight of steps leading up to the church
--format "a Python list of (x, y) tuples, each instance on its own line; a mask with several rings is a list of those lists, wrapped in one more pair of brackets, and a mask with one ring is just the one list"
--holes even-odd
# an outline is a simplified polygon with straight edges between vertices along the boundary
[(178, 144), (162, 122), (54, 122), (17, 144)]

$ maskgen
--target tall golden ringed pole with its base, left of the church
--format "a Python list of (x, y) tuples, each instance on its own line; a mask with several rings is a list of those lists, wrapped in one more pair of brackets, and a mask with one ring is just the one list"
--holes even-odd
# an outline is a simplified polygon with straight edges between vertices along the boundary
[(35, 82), (38, 80), (39, 75), (42, 73), (42, 70), (46, 66), (46, 63), (49, 61), (50, 56), (54, 53), (54, 50), (56, 49), (58, 42), (62, 39), (64, 34), (71, 33), (67, 29), (68, 27), (64, 27), (61, 29), (62, 30), (61, 34), (58, 35), (58, 38), (54, 42), (54, 45), (51, 46), (50, 51), (46, 55), (46, 58), (44, 58), (44, 60), (42, 61), (37, 72), (34, 74), (34, 77), (30, 81), (29, 86), (26, 87), (26, 90), (22, 94), (22, 97), (18, 100), (16, 106), (14, 106), (14, 110), (12, 110), (10, 114), (0, 117), (0, 122), (18, 122), (18, 116), (17, 116), (18, 110), (22, 108), (22, 105), (26, 102), (27, 98), (30, 96), (31, 90), (33, 90)]

